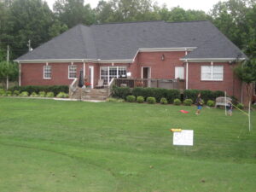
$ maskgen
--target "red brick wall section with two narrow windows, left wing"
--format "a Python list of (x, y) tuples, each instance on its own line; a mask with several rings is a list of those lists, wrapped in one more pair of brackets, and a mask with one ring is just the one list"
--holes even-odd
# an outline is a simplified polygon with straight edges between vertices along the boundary
[[(71, 63), (49, 63), (51, 66), (51, 79), (44, 79), (45, 63), (22, 63), (21, 64), (21, 85), (63, 85), (72, 84), (73, 79), (68, 79), (68, 66)], [(77, 65), (77, 77), (83, 69), (83, 63)]]

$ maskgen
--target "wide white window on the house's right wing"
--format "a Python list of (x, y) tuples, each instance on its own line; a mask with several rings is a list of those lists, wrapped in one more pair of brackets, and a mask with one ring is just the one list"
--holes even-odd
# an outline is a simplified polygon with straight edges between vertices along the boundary
[(201, 66), (201, 80), (223, 80), (223, 66)]

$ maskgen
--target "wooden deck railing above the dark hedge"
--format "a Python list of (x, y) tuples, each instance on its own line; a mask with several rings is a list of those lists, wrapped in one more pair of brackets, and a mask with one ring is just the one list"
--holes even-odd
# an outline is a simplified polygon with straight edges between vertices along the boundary
[(119, 87), (156, 87), (164, 89), (184, 89), (184, 81), (181, 79), (115, 79), (115, 85)]

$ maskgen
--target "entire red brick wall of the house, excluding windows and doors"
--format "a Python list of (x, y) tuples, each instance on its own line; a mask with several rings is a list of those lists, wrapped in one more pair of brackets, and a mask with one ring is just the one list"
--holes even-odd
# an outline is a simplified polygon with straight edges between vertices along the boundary
[[(162, 55), (165, 56), (164, 61), (161, 60)], [(142, 67), (151, 68), (152, 79), (174, 79), (175, 67), (184, 67), (184, 78), (186, 78), (185, 64), (179, 60), (184, 55), (184, 51), (141, 52), (137, 54), (133, 63), (114, 63), (113, 66), (126, 66), (127, 72), (131, 72), (131, 77), (135, 79), (142, 77)], [(77, 77), (79, 77), (79, 71), (83, 69), (83, 63), (73, 64), (78, 66)], [(68, 85), (73, 82), (73, 79), (68, 79), (68, 65), (71, 65), (70, 62), (49, 63), (52, 66), (52, 79), (44, 79), (44, 65), (44, 63), (21, 64), (21, 85)], [(211, 63), (189, 63), (189, 89), (226, 90), (228, 95), (236, 96), (239, 100), (241, 99), (241, 82), (234, 76), (233, 65), (229, 63), (213, 63), (213, 65), (224, 66), (223, 81), (202, 81), (202, 65), (211, 65)], [(98, 79), (100, 79), (100, 67), (112, 66), (112, 64), (86, 63), (85, 75), (87, 77), (90, 66), (94, 67), (94, 85), (96, 85)]]

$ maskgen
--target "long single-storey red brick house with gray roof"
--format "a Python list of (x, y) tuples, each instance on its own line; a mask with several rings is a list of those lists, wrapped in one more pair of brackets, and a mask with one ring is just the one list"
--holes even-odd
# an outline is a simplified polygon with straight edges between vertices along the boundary
[(98, 79), (183, 79), (185, 89), (226, 90), (239, 100), (233, 73), (247, 59), (209, 21), (130, 22), (74, 26), (15, 61), (20, 85), (72, 84), (83, 70)]

